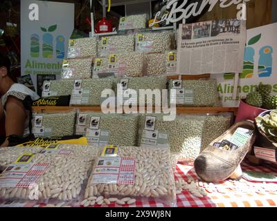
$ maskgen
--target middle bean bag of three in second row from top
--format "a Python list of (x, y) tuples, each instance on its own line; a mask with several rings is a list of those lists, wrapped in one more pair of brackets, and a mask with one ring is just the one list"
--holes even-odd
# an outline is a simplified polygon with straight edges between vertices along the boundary
[(107, 56), (116, 53), (134, 51), (134, 35), (110, 35), (98, 41), (98, 55)]

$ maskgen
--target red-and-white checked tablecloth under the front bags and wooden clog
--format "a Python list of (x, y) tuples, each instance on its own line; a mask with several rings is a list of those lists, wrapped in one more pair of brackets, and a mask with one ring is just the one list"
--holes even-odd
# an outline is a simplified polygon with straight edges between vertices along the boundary
[[(242, 163), (243, 171), (260, 171), (265, 173), (274, 173), (277, 175), (277, 169), (263, 166), (250, 166), (247, 162)], [(188, 177), (193, 177), (197, 180), (198, 177), (193, 169), (193, 166), (186, 166), (177, 164), (175, 171), (175, 178), (183, 178), (188, 181)], [(188, 191), (183, 191), (177, 195), (178, 207), (269, 207), (277, 206), (277, 191), (265, 191), (261, 189), (261, 186), (277, 185), (273, 183), (262, 184), (261, 182), (248, 182), (241, 180), (239, 182), (240, 189), (236, 189), (235, 184), (231, 180), (227, 180), (220, 184), (215, 184), (217, 191), (208, 193), (204, 198), (196, 198)], [(238, 186), (238, 184), (237, 184)], [(49, 202), (49, 204), (55, 202)], [(62, 206), (80, 206), (80, 202), (74, 202), (73, 204), (64, 204)], [(35, 202), (1, 202), (0, 206), (21, 206), (21, 207), (44, 207), (46, 204), (36, 204)], [(167, 207), (168, 205), (156, 201), (139, 201), (132, 205), (109, 204), (101, 205), (102, 207)], [(93, 206), (91, 206), (93, 207)], [(94, 207), (100, 207), (95, 205)]]

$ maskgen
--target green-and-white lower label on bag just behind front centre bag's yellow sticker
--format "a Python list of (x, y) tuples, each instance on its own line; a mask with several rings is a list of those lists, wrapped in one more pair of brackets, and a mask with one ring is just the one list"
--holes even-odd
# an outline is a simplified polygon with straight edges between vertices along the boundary
[(89, 128), (86, 137), (89, 145), (103, 146), (109, 143), (109, 131)]

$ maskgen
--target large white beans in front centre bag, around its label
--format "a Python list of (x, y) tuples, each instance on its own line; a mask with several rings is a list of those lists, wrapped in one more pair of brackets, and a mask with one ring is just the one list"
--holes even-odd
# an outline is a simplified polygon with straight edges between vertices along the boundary
[(92, 173), (84, 193), (84, 200), (87, 200), (83, 202), (85, 206), (93, 204), (93, 200), (100, 195), (102, 197), (98, 198), (98, 204), (102, 204), (104, 198), (109, 202), (115, 200), (117, 204), (131, 204), (134, 201), (132, 198), (137, 197), (175, 202), (175, 180), (169, 148), (122, 146), (118, 148), (117, 156), (136, 160), (134, 184), (95, 184)]

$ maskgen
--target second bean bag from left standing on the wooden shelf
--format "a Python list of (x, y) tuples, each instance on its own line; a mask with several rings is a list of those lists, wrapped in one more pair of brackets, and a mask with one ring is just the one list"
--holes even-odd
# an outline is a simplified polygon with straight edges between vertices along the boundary
[(114, 79), (75, 79), (71, 93), (72, 106), (100, 106), (105, 98), (101, 97), (102, 91), (111, 89)]

